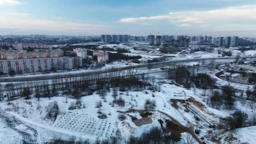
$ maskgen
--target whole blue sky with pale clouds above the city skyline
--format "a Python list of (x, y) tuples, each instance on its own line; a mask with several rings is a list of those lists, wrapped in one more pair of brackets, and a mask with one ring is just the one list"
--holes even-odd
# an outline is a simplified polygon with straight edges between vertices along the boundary
[(0, 34), (256, 37), (256, 0), (0, 0)]

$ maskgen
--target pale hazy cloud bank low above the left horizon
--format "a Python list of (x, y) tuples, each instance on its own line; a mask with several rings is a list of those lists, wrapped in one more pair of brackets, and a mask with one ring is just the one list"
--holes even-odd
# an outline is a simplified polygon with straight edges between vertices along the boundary
[(93, 30), (104, 29), (102, 24), (77, 23), (62, 20), (35, 19), (26, 13), (0, 13), (0, 29), (12, 29), (16, 32), (40, 32), (45, 34), (88, 34)]

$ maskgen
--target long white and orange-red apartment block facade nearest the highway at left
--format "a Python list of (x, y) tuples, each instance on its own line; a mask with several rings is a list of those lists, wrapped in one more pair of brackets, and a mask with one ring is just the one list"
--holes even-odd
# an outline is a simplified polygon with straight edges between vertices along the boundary
[(6, 59), (0, 60), (0, 72), (3, 74), (44, 72), (51, 70), (75, 69), (82, 67), (81, 57), (53, 57), (32, 59)]

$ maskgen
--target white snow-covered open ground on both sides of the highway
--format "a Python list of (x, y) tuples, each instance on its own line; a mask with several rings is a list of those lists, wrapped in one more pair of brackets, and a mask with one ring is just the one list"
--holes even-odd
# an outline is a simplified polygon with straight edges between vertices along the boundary
[[(131, 53), (125, 54), (140, 55), (142, 56), (140, 61), (147, 61), (148, 59), (163, 56), (167, 57), (168, 59), (193, 59), (221, 56), (221, 54), (217, 53), (219, 48), (215, 48), (211, 53), (206, 51), (197, 51), (187, 54), (164, 54), (160, 53), (159, 48), (148, 46), (143, 42), (134, 42), (125, 45), (104, 44), (100, 45), (98, 48), (103, 47), (128, 49), (131, 51)], [(135, 50), (134, 48), (137, 47), (146, 47), (149, 51)], [(230, 48), (230, 50), (233, 51), (234, 56), (239, 53), (236, 48)], [(188, 49), (186, 51), (188, 51)], [(252, 55), (254, 53), (256, 52), (245, 51), (244, 55)], [(122, 67), (128, 63), (133, 64), (129, 61), (114, 61), (110, 64), (106, 64), (102, 69)], [(198, 62), (193, 61), (187, 62), (186, 64), (193, 65), (198, 64)], [(80, 73), (90, 70), (92, 69), (51, 73), (48, 75)], [(143, 69), (141, 71), (143, 71)], [(207, 73), (211, 77), (215, 78), (216, 86), (219, 87), (231, 85), (234, 88), (244, 91), (246, 91), (248, 87), (252, 88), (252, 85), (232, 83), (216, 77), (215, 74), (219, 72), (217, 69), (209, 70), (203, 68), (200, 69), (200, 72)], [(155, 77), (155, 83), (160, 84), (160, 91), (152, 91), (149, 89), (149, 87), (146, 87), (146, 89), (143, 90), (131, 89), (127, 93), (118, 92), (117, 99), (122, 98), (125, 100), (124, 107), (120, 107), (117, 104), (112, 103), (112, 101), (115, 99), (112, 96), (112, 88), (110, 88), (110, 91), (107, 92), (104, 98), (99, 96), (99, 94), (96, 92), (90, 96), (81, 97), (81, 108), (73, 110), (69, 109), (69, 107), (72, 104), (75, 104), (77, 100), (61, 93), (61, 91), (58, 91), (58, 96), (51, 97), (51, 99), (40, 98), (40, 100), (37, 100), (34, 96), (31, 96), (30, 99), (20, 98), (13, 101), (8, 101), (6, 99), (0, 101), (0, 143), (20, 144), (26, 141), (28, 143), (41, 144), (52, 141), (56, 138), (63, 140), (68, 140), (71, 138), (75, 138), (76, 140), (89, 139), (89, 141), (95, 141), (96, 139), (108, 139), (110, 136), (120, 136), (127, 140), (130, 136), (141, 136), (143, 132), (149, 131), (150, 128), (161, 128), (161, 124), (158, 120), (163, 120), (165, 122), (165, 120), (170, 119), (168, 116), (171, 116), (186, 128), (192, 125), (194, 129), (200, 129), (200, 134), (197, 135), (197, 137), (205, 137), (205, 142), (208, 144), (214, 144), (214, 142), (211, 141), (211, 138), (208, 138), (207, 136), (209, 136), (209, 131), (214, 133), (218, 130), (209, 128), (209, 123), (216, 125), (219, 123), (220, 117), (227, 117), (237, 109), (246, 112), (249, 117), (254, 113), (248, 104), (248, 100), (246, 100), (245, 104), (242, 105), (237, 99), (233, 109), (214, 109), (208, 104), (212, 91), (203, 91), (201, 88), (183, 88), (181, 85), (177, 85), (172, 80), (165, 80), (166, 77), (163, 73), (153, 74), (151, 76)], [(137, 120), (142, 120), (144, 118), (139, 113), (139, 110), (145, 109), (144, 104), (146, 99), (155, 100), (156, 102), (155, 109), (150, 111), (152, 112), (152, 115), (147, 117), (152, 120), (152, 122), (149, 121), (149, 123), (145, 125), (137, 126), (134, 120), (132, 120), (132, 117), (136, 117)], [(174, 102), (171, 101), (173, 99), (178, 100), (176, 106)], [(182, 103), (181, 101), (186, 101), (187, 99), (193, 100), (193, 102), (188, 102), (190, 109), (195, 110), (195, 112), (202, 116), (204, 120), (197, 121), (194, 117), (197, 114), (191, 111), (184, 111), (186, 109), (186, 104)], [(102, 106), (97, 108), (96, 103), (99, 103), (99, 101), (101, 101)], [(56, 112), (52, 112), (51, 109), (49, 109), (49, 107), (54, 107), (55, 102), (59, 107), (56, 119), (49, 116), (49, 112), (51, 112), (51, 115)], [(198, 104), (200, 104), (200, 107)], [(134, 111), (130, 112), (129, 110), (131, 109), (134, 109)], [(125, 114), (122, 114), (121, 112), (124, 112)], [(125, 115), (125, 120), (120, 120), (118, 118), (121, 114)], [(102, 115), (105, 115), (106, 117), (104, 119), (99, 118), (99, 116)], [(250, 144), (253, 144), (255, 141), (255, 132), (255, 126), (239, 128), (232, 131), (234, 136), (236, 136), (237, 141), (248, 142)], [(185, 136), (186, 134), (187, 133), (182, 133), (182, 136)], [(226, 142), (227, 141), (223, 140), (222, 144), (225, 144)]]

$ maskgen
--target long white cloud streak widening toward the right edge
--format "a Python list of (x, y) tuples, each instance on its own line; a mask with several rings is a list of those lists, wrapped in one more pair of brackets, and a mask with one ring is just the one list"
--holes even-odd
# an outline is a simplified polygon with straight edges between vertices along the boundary
[[(168, 21), (177, 27), (203, 27), (211, 30), (256, 29), (256, 5), (220, 8), (211, 11), (178, 11), (165, 15), (120, 19), (120, 23), (140, 24)], [(229, 25), (231, 27), (229, 27)]]

